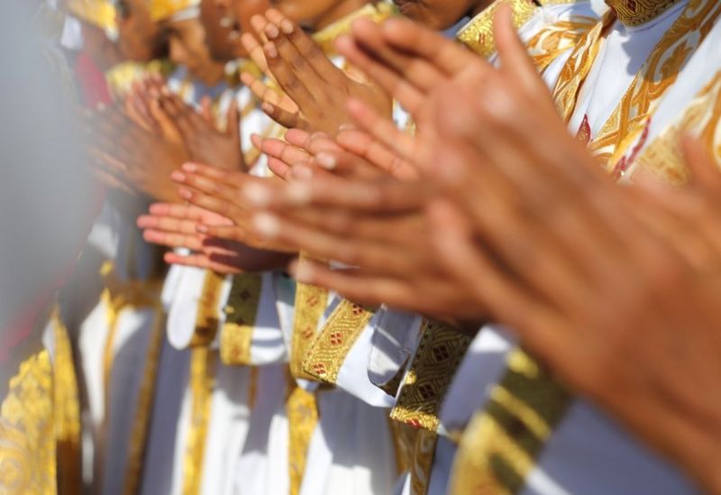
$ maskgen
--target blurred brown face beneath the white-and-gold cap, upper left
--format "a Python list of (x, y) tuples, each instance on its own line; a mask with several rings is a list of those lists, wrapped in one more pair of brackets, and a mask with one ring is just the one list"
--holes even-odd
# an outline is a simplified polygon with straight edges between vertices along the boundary
[(169, 23), (170, 60), (187, 67), (188, 73), (206, 84), (215, 84), (224, 75), (222, 63), (214, 61), (205, 44), (205, 30), (199, 19)]

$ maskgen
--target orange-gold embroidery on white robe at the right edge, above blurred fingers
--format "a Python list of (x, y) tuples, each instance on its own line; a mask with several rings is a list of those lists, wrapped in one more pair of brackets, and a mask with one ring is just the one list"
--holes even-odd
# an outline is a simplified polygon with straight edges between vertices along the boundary
[[(698, 92), (684, 110), (680, 121), (665, 129), (643, 150), (635, 163), (635, 170), (651, 172), (654, 176), (679, 186), (689, 179), (689, 173), (680, 151), (684, 133), (694, 133), (704, 142), (707, 151), (721, 163), (721, 147), (716, 146), (716, 135), (721, 121), (721, 72)], [(635, 171), (634, 170), (634, 171)]]

